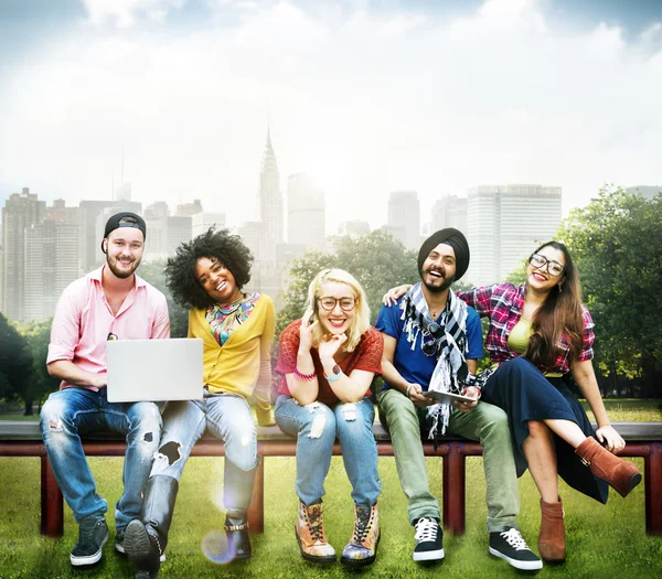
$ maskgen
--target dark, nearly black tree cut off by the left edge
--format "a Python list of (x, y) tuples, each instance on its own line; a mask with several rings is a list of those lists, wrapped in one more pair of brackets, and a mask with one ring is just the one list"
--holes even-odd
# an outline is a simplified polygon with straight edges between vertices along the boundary
[(0, 313), (0, 398), (23, 399), (32, 374), (32, 356), (23, 336)]

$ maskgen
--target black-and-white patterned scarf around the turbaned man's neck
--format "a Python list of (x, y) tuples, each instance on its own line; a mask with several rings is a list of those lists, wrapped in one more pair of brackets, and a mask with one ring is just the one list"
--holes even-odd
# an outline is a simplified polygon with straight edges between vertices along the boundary
[[(425, 347), (424, 352), (427, 355), (437, 356), (428, 390), (461, 394), (468, 374), (467, 304), (449, 290), (444, 319), (437, 324), (430, 317), (421, 285), (418, 282), (407, 292), (401, 309), (401, 320), (405, 321), (403, 331), (407, 334), (407, 341), (412, 343), (412, 350), (416, 347), (416, 341), (420, 336), (420, 349)], [(427, 416), (433, 423), (428, 438), (434, 439), (439, 427), (441, 435), (446, 432), (450, 412), (453, 410), (452, 405), (442, 403), (428, 407)]]

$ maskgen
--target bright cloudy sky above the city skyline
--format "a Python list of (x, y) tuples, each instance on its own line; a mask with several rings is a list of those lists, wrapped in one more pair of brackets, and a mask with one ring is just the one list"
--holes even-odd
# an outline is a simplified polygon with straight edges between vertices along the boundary
[[(0, 204), (193, 199), (257, 217), (270, 130), (328, 233), (416, 191), (662, 185), (662, 2), (0, 0)], [(542, 217), (544, 218), (544, 217)]]

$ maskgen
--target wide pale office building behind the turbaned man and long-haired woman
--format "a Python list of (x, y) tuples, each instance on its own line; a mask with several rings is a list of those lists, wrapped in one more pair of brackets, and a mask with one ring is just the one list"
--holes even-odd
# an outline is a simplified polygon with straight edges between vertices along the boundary
[(481, 185), (469, 191), (467, 238), (471, 264), (465, 280), (502, 281), (560, 225), (560, 187)]

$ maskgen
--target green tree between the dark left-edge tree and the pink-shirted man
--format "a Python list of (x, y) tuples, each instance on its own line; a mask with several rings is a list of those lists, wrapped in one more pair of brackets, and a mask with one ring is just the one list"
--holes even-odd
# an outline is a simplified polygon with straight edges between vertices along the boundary
[(51, 324), (53, 320), (36, 321), (31, 320), (18, 325), (18, 331), (25, 340), (25, 345), (32, 357), (32, 374), (26, 382), (25, 387), (20, 393), (20, 398), (25, 406), (25, 416), (33, 414), (32, 407), (41, 405), (46, 396), (55, 392), (60, 380), (49, 375), (46, 369), (46, 356), (49, 354), (49, 342), (51, 341)]

